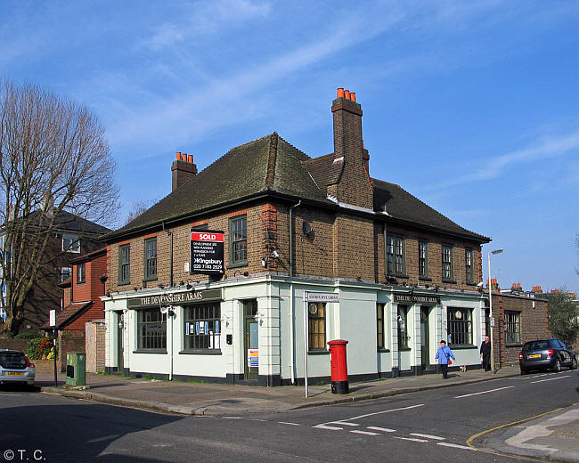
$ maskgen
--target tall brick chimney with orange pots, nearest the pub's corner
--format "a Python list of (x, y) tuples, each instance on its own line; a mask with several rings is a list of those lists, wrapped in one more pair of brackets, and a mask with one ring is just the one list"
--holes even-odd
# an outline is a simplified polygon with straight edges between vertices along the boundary
[(338, 182), (328, 185), (328, 194), (339, 202), (371, 209), (370, 156), (363, 148), (362, 107), (356, 102), (355, 93), (338, 88), (331, 112), (334, 116), (334, 166), (343, 166)]

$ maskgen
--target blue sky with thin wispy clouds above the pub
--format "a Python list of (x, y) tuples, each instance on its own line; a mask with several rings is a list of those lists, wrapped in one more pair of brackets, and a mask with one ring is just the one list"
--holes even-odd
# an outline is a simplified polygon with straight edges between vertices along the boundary
[(119, 223), (167, 195), (176, 150), (203, 168), (275, 130), (331, 152), (344, 86), (372, 176), (505, 248), (503, 288), (579, 292), (575, 1), (5, 1), (0, 18), (0, 75), (85, 102), (107, 127)]

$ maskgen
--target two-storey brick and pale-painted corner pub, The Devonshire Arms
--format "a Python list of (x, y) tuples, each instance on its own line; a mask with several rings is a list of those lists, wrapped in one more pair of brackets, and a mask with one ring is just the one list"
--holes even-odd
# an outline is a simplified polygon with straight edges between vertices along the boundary
[(173, 191), (105, 237), (107, 370), (288, 385), (307, 349), (327, 381), (332, 339), (353, 381), (435, 371), (440, 339), (480, 368), (489, 239), (371, 177), (355, 93), (331, 112), (317, 158), (277, 133), (201, 172), (176, 153)]

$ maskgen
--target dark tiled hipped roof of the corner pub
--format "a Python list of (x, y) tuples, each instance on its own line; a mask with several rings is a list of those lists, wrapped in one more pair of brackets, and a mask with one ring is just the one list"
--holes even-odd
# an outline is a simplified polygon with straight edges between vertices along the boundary
[[(339, 181), (343, 168), (343, 158), (336, 159), (334, 153), (310, 158), (274, 132), (232, 148), (135, 220), (105, 235), (103, 240), (114, 241), (162, 222), (259, 193), (279, 193), (336, 207), (336, 203), (327, 198), (326, 189)], [(396, 220), (459, 234), (471, 240), (489, 241), (428, 207), (399, 185), (374, 179), (372, 182), (376, 212), (386, 208), (386, 216)]]

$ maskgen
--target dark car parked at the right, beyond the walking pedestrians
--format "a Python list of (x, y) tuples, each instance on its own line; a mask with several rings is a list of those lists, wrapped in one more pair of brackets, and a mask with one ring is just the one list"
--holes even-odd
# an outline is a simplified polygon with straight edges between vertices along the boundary
[(518, 366), (521, 375), (530, 370), (555, 370), (563, 367), (569, 370), (577, 369), (577, 354), (570, 345), (559, 339), (539, 339), (528, 341), (523, 350), (518, 353)]

